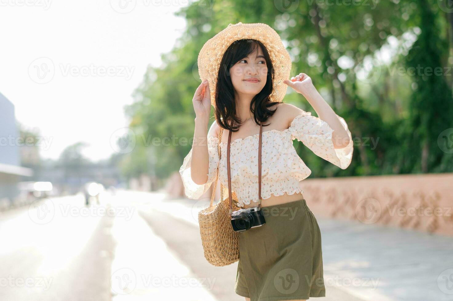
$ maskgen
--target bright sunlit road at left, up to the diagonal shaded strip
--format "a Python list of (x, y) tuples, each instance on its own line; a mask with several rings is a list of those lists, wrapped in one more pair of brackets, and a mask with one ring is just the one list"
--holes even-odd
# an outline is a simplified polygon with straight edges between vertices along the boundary
[(212, 279), (139, 216), (150, 196), (118, 191), (90, 207), (67, 196), (2, 212), (0, 301), (216, 301)]

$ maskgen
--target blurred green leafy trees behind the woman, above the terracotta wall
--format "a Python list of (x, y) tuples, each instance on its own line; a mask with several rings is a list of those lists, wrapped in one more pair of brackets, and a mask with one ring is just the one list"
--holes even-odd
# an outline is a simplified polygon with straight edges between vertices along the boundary
[[(239, 21), (273, 27), (292, 57), (291, 76), (300, 72), (311, 76), (324, 99), (348, 123), (355, 148), (346, 170), (295, 145), (313, 177), (452, 171), (452, 154), (438, 146), (439, 134), (453, 127), (445, 76), (395, 73), (397, 68), (418, 64), (446, 66), (452, 29), (435, 1), (359, 5), (300, 1), (296, 6), (276, 7), (277, 2), (199, 1), (177, 13), (187, 20), (186, 32), (178, 46), (162, 57), (163, 68), (148, 69), (135, 91), (135, 103), (125, 108), (130, 127), (143, 136), (124, 158), (126, 174), (145, 172), (152, 161), (156, 176), (164, 178), (181, 166), (193, 138), (191, 100), (200, 83), (198, 52), (209, 38)], [(400, 43), (392, 48), (390, 61), (374, 60), (369, 70), (367, 59), (376, 58), (389, 41)], [(361, 78), (364, 69), (376, 78)], [(316, 115), (303, 96), (288, 90), (284, 102)], [(145, 148), (153, 149), (152, 160)]]

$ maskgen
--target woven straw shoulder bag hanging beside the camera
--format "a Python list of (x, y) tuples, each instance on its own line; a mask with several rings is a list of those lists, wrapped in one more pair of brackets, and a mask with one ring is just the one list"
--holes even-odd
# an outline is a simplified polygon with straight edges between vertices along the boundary
[[(222, 139), (223, 128), (220, 128), (218, 141)], [(220, 143), (218, 143), (219, 158), (222, 155)], [(216, 267), (223, 267), (239, 260), (239, 232), (233, 230), (231, 215), (229, 214), (229, 196), (225, 194), (225, 188), (220, 183), (220, 201), (212, 205), (216, 193), (219, 172), (212, 189), (211, 202), (209, 207), (198, 212), (198, 223), (200, 224), (200, 235), (206, 260)], [(232, 192), (233, 200), (237, 196)], [(232, 204), (233, 211), (241, 209)]]

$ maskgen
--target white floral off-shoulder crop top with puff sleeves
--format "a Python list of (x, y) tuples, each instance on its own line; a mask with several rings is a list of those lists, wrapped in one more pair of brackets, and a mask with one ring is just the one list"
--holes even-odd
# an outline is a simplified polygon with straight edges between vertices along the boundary
[[(261, 150), (261, 197), (263, 200), (269, 198), (271, 194), (281, 196), (285, 192), (288, 195), (296, 192), (304, 193), (300, 181), (308, 177), (311, 170), (297, 154), (293, 146), (294, 139), (302, 141), (317, 156), (342, 169), (349, 166), (353, 152), (352, 136), (346, 121), (340, 116), (338, 118), (349, 136), (349, 144), (344, 148), (333, 147), (333, 129), (327, 122), (312, 116), (311, 112), (303, 112), (302, 115), (296, 116), (289, 128), (283, 131), (263, 130)], [(251, 201), (258, 201), (258, 141), (259, 134), (231, 140), (231, 190), (236, 192), (240, 207), (250, 204)], [(228, 187), (227, 143), (220, 143), (222, 155), (219, 159), (218, 142), (217, 137), (207, 137), (209, 172), (205, 184), (196, 184), (190, 176), (192, 149), (184, 158), (179, 173), (183, 180), (185, 195), (188, 198), (199, 199), (216, 180), (217, 172), (219, 172), (219, 180)]]

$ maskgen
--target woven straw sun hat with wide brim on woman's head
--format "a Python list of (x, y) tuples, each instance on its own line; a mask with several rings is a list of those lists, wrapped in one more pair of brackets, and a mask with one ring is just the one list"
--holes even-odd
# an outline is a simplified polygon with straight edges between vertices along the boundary
[(270, 94), (272, 101), (281, 102), (288, 86), (283, 82), (289, 79), (291, 57), (284, 47), (278, 33), (264, 23), (229, 24), (226, 29), (209, 39), (198, 54), (198, 73), (200, 79), (206, 78), (211, 92), (211, 104), (216, 106), (217, 75), (226, 49), (234, 41), (255, 39), (266, 47), (275, 70), (273, 90)]

